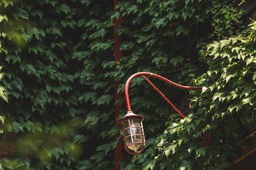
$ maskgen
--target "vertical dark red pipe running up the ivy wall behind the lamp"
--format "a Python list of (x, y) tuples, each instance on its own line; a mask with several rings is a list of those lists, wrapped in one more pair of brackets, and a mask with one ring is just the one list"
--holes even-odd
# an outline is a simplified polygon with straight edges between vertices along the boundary
[[(116, 6), (117, 3), (120, 0), (114, 0), (114, 5)], [(115, 7), (114, 7), (115, 8)], [(118, 9), (115, 9), (115, 12), (118, 12)], [(121, 53), (121, 51), (119, 50), (120, 46), (121, 46), (121, 37), (118, 35), (118, 31), (117, 31), (117, 27), (121, 24), (121, 16), (119, 16), (119, 18), (115, 18), (115, 68), (116, 68), (116, 64), (119, 63), (121, 57), (123, 56), (123, 54)], [(119, 86), (119, 81), (115, 81), (115, 126), (117, 126), (117, 117), (119, 116), (119, 114), (121, 113), (121, 104), (119, 102), (117, 102), (119, 100), (119, 98), (121, 98), (121, 93), (117, 93), (117, 89)], [(118, 137), (118, 133), (115, 134), (115, 138)], [(119, 141), (119, 143), (117, 144), (117, 147), (115, 147), (115, 170), (120, 170), (120, 165), (118, 164), (118, 162), (122, 159), (123, 157), (123, 146), (121, 141)]]

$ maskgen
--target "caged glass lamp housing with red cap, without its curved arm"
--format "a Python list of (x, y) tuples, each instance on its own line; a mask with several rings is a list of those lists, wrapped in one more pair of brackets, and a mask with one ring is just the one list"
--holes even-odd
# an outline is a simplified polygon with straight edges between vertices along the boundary
[(146, 146), (142, 125), (143, 116), (128, 111), (118, 120), (123, 135), (124, 148), (129, 154), (139, 154)]

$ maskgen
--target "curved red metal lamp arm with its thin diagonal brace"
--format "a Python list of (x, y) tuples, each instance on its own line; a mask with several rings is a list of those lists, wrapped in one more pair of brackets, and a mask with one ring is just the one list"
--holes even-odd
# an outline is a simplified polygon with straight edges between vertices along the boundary
[(176, 107), (174, 107), (174, 105), (172, 104), (172, 102), (170, 102), (162, 93), (161, 91), (159, 91), (159, 89), (157, 89), (153, 83), (151, 83), (145, 76), (152, 76), (156, 79), (159, 79), (161, 81), (165, 81), (165, 83), (169, 83), (170, 85), (173, 85), (174, 87), (178, 87), (178, 88), (181, 88), (181, 89), (202, 89), (202, 87), (191, 87), (191, 86), (185, 86), (185, 85), (179, 85), (178, 83), (174, 83), (173, 81), (170, 81), (168, 79), (166, 79), (165, 77), (163, 76), (159, 76), (158, 74), (154, 74), (154, 73), (151, 73), (151, 72), (137, 72), (135, 74), (133, 74), (132, 76), (129, 77), (129, 79), (126, 81), (126, 86), (125, 86), (125, 89), (124, 89), (124, 93), (125, 93), (125, 96), (126, 96), (126, 107), (127, 107), (127, 110), (128, 111), (131, 111), (130, 109), (130, 99), (129, 99), (129, 94), (128, 94), (128, 87), (129, 87), (129, 84), (130, 84), (130, 81), (135, 78), (135, 76), (143, 76), (144, 79), (146, 79), (146, 81), (148, 81), (148, 83), (150, 83), (150, 85), (152, 85), (152, 87), (154, 87), (154, 89), (156, 89), (156, 91), (167, 101), (169, 102), (172, 107), (183, 117), (185, 118), (185, 116), (180, 112), (178, 111), (178, 109), (176, 109)]

